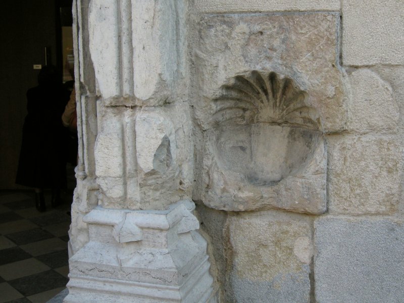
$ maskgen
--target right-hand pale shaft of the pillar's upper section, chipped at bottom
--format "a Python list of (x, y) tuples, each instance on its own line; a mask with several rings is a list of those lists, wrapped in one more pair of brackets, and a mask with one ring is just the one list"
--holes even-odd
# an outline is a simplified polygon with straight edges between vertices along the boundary
[[(177, 1), (133, 1), (134, 92), (151, 104), (170, 96), (177, 73)], [(180, 3), (180, 2), (179, 2)], [(180, 31), (180, 29), (178, 29)]]

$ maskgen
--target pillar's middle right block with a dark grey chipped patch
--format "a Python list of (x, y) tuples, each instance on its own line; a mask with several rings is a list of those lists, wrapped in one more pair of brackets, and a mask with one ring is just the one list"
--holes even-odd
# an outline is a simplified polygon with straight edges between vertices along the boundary
[(164, 210), (190, 196), (194, 179), (192, 140), (187, 105), (175, 102), (139, 111), (135, 155), (140, 200), (137, 208), (129, 205), (130, 209)]

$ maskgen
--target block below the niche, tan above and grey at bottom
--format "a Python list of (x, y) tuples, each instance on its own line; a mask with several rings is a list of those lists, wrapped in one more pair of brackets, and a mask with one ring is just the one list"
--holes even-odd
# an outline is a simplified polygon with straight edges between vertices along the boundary
[(229, 218), (233, 270), (229, 302), (308, 302), (311, 222), (261, 212)]

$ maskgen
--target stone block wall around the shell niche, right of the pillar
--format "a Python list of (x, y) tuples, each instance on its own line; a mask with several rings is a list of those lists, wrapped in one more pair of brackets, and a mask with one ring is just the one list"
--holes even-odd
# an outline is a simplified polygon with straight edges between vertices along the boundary
[[(190, 14), (193, 198), (222, 301), (402, 301), (402, 3), (206, 0)], [(282, 79), (299, 115), (260, 105)]]

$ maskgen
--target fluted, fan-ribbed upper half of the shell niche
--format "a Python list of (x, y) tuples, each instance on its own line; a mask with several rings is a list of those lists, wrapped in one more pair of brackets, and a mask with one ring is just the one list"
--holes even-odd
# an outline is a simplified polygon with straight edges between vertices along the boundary
[(235, 76), (221, 89), (221, 95), (214, 99), (213, 120), (217, 123), (268, 122), (320, 128), (317, 110), (306, 104), (307, 92), (288, 77), (252, 71)]

